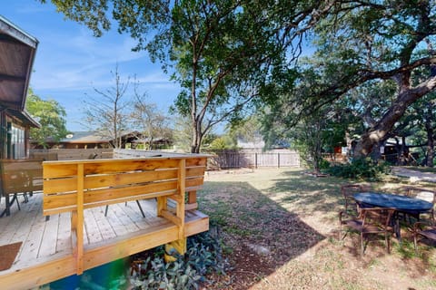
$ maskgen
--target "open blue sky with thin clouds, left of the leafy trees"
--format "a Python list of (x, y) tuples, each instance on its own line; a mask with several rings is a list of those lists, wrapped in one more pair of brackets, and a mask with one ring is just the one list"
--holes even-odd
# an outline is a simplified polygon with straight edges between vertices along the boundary
[(87, 130), (80, 124), (86, 94), (98, 98), (94, 88), (112, 87), (111, 71), (117, 63), (121, 77), (126, 80), (136, 75), (149, 102), (164, 113), (179, 92), (160, 63), (151, 63), (145, 52), (131, 51), (135, 42), (127, 34), (111, 31), (95, 38), (84, 25), (65, 20), (50, 1), (45, 5), (35, 0), (0, 3), (0, 14), (39, 41), (30, 86), (39, 97), (54, 99), (64, 107), (70, 131)]

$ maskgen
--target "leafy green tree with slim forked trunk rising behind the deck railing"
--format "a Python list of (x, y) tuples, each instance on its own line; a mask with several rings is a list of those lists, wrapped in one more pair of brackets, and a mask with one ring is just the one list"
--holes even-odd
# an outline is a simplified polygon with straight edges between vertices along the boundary
[(174, 107), (190, 117), (192, 152), (214, 125), (243, 116), (272, 66), (298, 52), (298, 36), (332, 8), (329, 2), (296, 0), (52, 2), (96, 36), (116, 21), (119, 32), (137, 40), (135, 50), (147, 50), (173, 73), (182, 88)]

